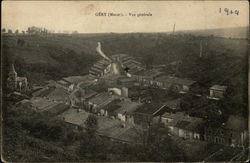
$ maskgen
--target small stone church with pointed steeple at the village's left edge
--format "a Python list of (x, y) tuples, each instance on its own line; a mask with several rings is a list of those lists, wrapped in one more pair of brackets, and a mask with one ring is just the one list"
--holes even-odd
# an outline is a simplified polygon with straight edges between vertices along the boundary
[(26, 77), (18, 77), (15, 67), (12, 64), (11, 69), (7, 79), (7, 86), (11, 90), (25, 91), (28, 86), (28, 81)]

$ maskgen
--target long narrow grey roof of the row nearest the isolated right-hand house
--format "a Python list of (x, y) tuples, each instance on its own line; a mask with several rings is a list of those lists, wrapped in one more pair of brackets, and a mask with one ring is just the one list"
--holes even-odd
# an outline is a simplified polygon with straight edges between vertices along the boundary
[(166, 76), (166, 75), (159, 76), (155, 80), (168, 82), (168, 83), (174, 83), (174, 84), (180, 84), (180, 85), (192, 85), (196, 83), (193, 80), (183, 79), (183, 78), (178, 78), (178, 77), (173, 77), (173, 76)]

